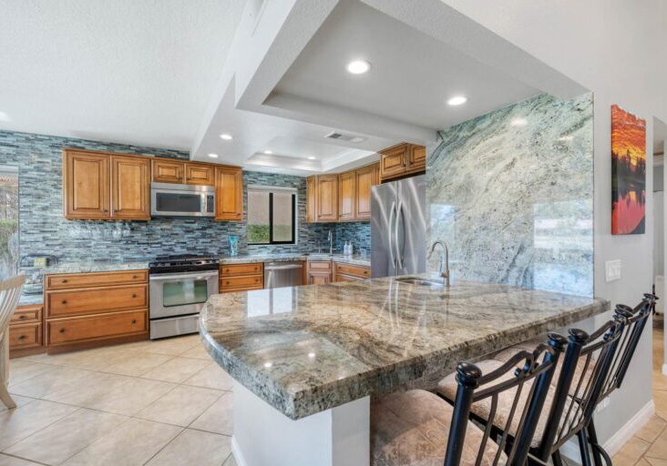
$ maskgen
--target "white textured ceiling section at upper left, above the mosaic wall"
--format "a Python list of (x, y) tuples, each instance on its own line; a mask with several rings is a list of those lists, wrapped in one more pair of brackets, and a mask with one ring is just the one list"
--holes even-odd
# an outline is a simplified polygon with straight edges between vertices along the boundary
[(188, 150), (244, 0), (0, 0), (0, 129)]

